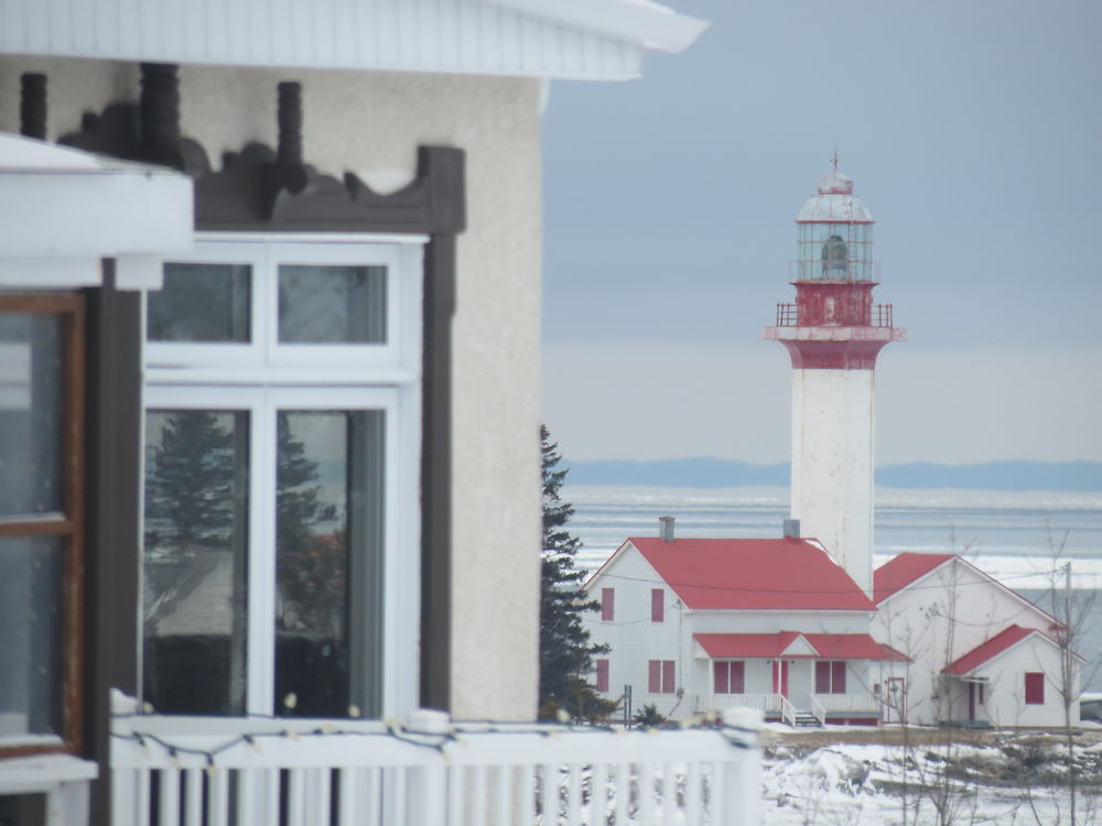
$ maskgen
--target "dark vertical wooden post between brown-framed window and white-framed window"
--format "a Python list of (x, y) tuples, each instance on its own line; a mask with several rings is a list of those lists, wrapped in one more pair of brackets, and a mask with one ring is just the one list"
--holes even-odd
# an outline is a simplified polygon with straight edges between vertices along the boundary
[(87, 626), (85, 754), (99, 763), (91, 823), (109, 823), (110, 689), (138, 696), (141, 554), (141, 301), (104, 286), (88, 291), (87, 330)]

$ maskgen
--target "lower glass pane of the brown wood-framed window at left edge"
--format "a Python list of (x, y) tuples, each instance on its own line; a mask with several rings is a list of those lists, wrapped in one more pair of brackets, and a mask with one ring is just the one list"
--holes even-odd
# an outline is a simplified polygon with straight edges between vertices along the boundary
[(0, 746), (63, 736), (63, 540), (0, 536)]

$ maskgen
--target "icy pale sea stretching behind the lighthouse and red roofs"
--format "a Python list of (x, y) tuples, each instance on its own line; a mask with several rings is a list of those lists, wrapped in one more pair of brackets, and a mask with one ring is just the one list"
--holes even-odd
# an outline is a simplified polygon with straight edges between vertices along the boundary
[[(596, 568), (628, 536), (657, 536), (677, 518), (678, 536), (780, 536), (787, 488), (644, 488), (565, 485), (580, 567)], [(1102, 492), (876, 491), (874, 564), (898, 553), (959, 553), (1051, 610), (1054, 567), (1071, 563), (1077, 602), (1088, 612), (1080, 653), (1088, 687), (1102, 691)], [(1054, 563), (1059, 552), (1060, 559)], [(1058, 577), (1062, 587), (1063, 576)]]

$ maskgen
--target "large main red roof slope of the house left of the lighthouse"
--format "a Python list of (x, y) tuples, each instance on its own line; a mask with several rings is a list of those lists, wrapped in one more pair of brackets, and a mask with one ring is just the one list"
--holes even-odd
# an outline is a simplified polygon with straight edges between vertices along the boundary
[(780, 540), (628, 540), (689, 608), (872, 611), (819, 545)]

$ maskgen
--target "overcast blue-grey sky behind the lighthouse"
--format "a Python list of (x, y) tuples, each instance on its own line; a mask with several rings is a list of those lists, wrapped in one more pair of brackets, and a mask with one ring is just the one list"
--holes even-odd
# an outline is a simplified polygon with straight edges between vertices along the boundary
[(544, 120), (543, 417), (569, 460), (784, 461), (793, 220), (876, 219), (877, 463), (1102, 460), (1102, 2), (667, 0), (711, 28)]

